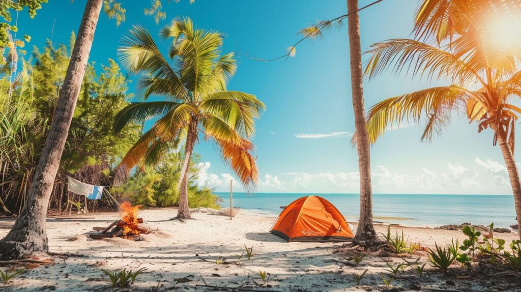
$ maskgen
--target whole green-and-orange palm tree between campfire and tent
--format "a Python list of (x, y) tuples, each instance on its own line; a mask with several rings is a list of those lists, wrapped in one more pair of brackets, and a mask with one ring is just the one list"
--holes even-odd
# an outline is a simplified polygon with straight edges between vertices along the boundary
[(169, 150), (184, 139), (178, 218), (190, 218), (188, 208), (188, 170), (193, 148), (204, 139), (212, 139), (222, 158), (246, 187), (258, 179), (254, 145), (255, 119), (264, 104), (254, 95), (227, 91), (226, 84), (235, 72), (233, 53), (220, 56), (222, 34), (193, 27), (190, 18), (175, 19), (160, 33), (172, 38), (171, 64), (159, 51), (152, 36), (134, 26), (119, 49), (122, 64), (131, 72), (143, 72), (139, 87), (146, 99), (162, 95), (165, 101), (134, 103), (116, 117), (115, 132), (130, 123), (158, 119), (128, 151), (116, 171), (116, 180), (124, 179), (138, 165), (158, 163)]

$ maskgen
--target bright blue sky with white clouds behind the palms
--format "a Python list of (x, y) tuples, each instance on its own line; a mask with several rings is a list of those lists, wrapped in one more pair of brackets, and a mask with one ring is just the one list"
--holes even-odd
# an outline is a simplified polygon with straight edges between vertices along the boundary
[[(19, 15), (19, 34), (30, 34), (31, 46), (41, 47), (46, 39), (68, 44), (70, 32), (79, 27), (85, 0), (49, 2), (33, 20), (26, 13)], [(267, 106), (254, 138), (261, 173), (258, 192), (358, 192), (357, 154), (350, 145), (354, 118), (347, 24), (324, 39), (303, 42), (296, 56), (287, 61), (259, 62), (241, 54), (260, 58), (284, 54), (299, 39), (297, 32), (302, 28), (345, 14), (345, 1), (195, 0), (190, 5), (188, 0), (177, 4), (165, 0), (167, 18), (157, 25), (152, 17), (143, 15), (143, 8), (150, 6), (148, 1), (121, 2), (127, 9), (126, 22), (116, 27), (102, 12), (90, 61), (99, 65), (107, 64), (108, 58), (117, 59), (120, 38), (135, 23), (158, 35), (173, 17), (189, 16), (200, 28), (225, 33), (223, 51), (237, 52), (239, 60), (229, 90), (255, 94)], [(361, 0), (359, 5), (370, 2)], [(412, 0), (385, 0), (362, 11), (362, 50), (378, 41), (410, 36), (416, 7)], [(159, 37), (156, 41), (167, 50), (167, 42)], [(387, 97), (443, 83), (384, 73), (364, 80), (366, 108)], [(135, 82), (130, 88), (135, 92)], [(371, 148), (375, 193), (511, 193), (501, 151), (492, 146), (490, 131), (478, 134), (476, 124), (468, 124), (458, 115), (432, 143), (419, 141), (422, 130), (405, 125), (386, 133)], [(196, 151), (204, 161), (199, 183), (227, 191), (233, 176), (215, 146), (202, 142)], [(518, 153), (516, 150), (516, 156)], [(241, 189), (239, 184), (236, 188)]]

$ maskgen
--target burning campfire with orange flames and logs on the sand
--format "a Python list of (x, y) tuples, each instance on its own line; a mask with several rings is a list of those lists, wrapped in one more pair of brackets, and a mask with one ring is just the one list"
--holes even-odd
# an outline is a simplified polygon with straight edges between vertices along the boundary
[(121, 219), (118, 219), (107, 227), (92, 228), (97, 233), (90, 234), (92, 239), (108, 237), (122, 237), (131, 240), (141, 240), (140, 234), (147, 234), (150, 228), (144, 226), (143, 218), (138, 218), (140, 206), (132, 206), (125, 201), (120, 206)]

